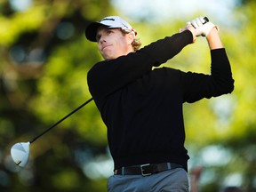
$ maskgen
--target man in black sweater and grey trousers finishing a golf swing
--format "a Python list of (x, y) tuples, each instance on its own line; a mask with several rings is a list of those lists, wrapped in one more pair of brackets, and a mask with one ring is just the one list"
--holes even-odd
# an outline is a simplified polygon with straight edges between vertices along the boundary
[[(217, 27), (204, 18), (144, 48), (118, 16), (92, 22), (85, 36), (104, 60), (88, 72), (88, 85), (108, 128), (114, 175), (108, 191), (188, 191), (188, 154), (182, 104), (232, 92), (234, 81)], [(155, 68), (206, 36), (212, 74)]]

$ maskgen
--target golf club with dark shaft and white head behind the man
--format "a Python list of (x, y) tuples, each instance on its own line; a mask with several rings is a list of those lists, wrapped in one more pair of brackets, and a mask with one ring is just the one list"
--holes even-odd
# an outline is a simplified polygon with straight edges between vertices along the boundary
[(68, 118), (68, 116), (73, 115), (74, 113), (76, 113), (77, 110), (79, 110), (80, 108), (83, 108), (90, 101), (92, 101), (92, 98), (90, 100), (86, 100), (81, 106), (79, 106), (78, 108), (71, 111), (67, 116), (64, 116), (55, 124), (52, 124), (52, 126), (50, 126), (47, 130), (45, 130), (41, 134), (37, 135), (32, 140), (30, 140), (28, 142), (19, 142), (19, 143), (14, 144), (11, 148), (11, 156), (12, 156), (12, 160), (14, 161), (14, 163), (20, 167), (25, 167), (26, 164), (28, 163), (30, 144), (33, 143), (34, 141), (36, 141), (39, 137), (43, 136), (46, 132), (49, 132), (50, 130), (52, 130), (53, 127), (60, 124), (62, 121), (64, 121), (66, 118)]

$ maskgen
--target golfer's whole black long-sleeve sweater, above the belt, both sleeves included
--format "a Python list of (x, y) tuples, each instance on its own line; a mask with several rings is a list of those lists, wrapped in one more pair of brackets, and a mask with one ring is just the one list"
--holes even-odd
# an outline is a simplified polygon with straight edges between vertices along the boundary
[(232, 92), (234, 80), (225, 49), (211, 51), (212, 73), (155, 68), (170, 60), (193, 36), (186, 30), (88, 72), (93, 100), (108, 128), (115, 169), (172, 162), (188, 169), (182, 104)]

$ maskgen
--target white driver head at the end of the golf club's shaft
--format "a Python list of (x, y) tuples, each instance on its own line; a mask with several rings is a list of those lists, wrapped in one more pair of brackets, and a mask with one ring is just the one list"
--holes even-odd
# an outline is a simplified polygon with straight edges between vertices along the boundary
[(16, 143), (11, 148), (11, 156), (14, 163), (20, 167), (25, 167), (28, 163), (30, 142)]

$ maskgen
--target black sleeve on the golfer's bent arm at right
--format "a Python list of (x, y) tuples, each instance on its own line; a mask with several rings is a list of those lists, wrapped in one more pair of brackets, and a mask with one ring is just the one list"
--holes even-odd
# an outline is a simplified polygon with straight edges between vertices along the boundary
[(234, 90), (234, 79), (224, 48), (211, 51), (211, 75), (182, 73), (184, 101), (195, 102), (203, 98), (217, 97)]

